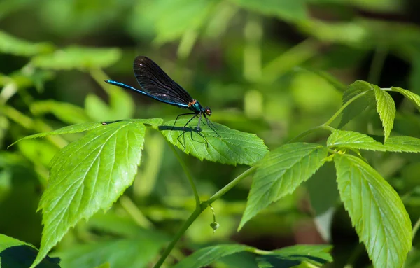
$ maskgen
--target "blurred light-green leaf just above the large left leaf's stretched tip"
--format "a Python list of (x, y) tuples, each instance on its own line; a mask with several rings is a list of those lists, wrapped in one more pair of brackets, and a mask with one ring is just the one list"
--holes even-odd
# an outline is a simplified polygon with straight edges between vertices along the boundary
[(47, 101), (35, 101), (31, 104), (30, 109), (31, 113), (34, 113), (34, 115), (52, 113), (59, 120), (68, 124), (78, 124), (90, 121), (90, 118), (86, 115), (83, 108), (52, 99)]

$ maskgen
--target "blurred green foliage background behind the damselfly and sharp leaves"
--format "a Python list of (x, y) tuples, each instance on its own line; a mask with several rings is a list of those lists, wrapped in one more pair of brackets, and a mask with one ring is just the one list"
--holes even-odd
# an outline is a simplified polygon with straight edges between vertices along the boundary
[[(1, 0), (0, 233), (39, 246), (36, 207), (48, 182), (48, 162), (80, 135), (25, 141), (6, 150), (13, 141), (79, 122), (173, 120), (182, 113), (103, 82), (112, 78), (137, 86), (132, 71), (137, 55), (153, 59), (210, 106), (211, 120), (255, 133), (272, 150), (328, 120), (354, 80), (420, 94), (419, 10), (417, 0)], [(420, 137), (415, 108), (393, 97), (393, 132)], [(345, 128), (381, 134), (374, 114), (365, 111)], [(327, 136), (321, 132), (306, 141), (322, 143)], [(364, 156), (399, 192), (415, 222), (419, 156)], [(182, 157), (203, 198), (247, 168)], [(205, 211), (168, 265), (221, 241), (267, 250), (330, 243), (335, 246), (330, 267), (369, 264), (338, 202), (332, 166), (237, 233), (250, 185), (248, 178), (214, 203), (221, 224), (215, 234), (211, 212)], [(111, 267), (147, 267), (194, 206), (172, 150), (158, 132), (149, 131), (132, 187), (105, 215), (71, 230), (55, 254), (63, 267), (94, 267), (110, 258)], [(248, 256), (239, 257), (216, 266), (246, 267)], [(420, 267), (418, 255), (410, 258), (407, 267)], [(130, 266), (134, 260), (137, 265)]]

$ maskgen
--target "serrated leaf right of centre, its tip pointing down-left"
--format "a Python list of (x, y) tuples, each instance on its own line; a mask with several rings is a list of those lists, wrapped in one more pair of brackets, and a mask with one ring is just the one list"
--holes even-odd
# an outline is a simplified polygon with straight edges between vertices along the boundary
[(293, 192), (324, 163), (328, 151), (315, 143), (290, 143), (268, 153), (257, 164), (239, 228), (272, 202)]

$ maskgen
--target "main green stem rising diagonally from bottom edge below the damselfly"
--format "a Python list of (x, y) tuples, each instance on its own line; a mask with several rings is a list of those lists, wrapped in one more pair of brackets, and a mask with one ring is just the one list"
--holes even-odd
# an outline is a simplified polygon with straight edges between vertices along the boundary
[[(174, 149), (175, 150), (175, 149)], [(160, 259), (158, 262), (156, 262), (154, 268), (159, 268), (163, 262), (165, 262), (166, 258), (168, 257), (169, 253), (171, 253), (172, 249), (176, 245), (176, 243), (181, 239), (182, 235), (188, 230), (188, 227), (190, 227), (191, 224), (195, 221), (200, 214), (207, 209), (207, 207), (216, 201), (216, 199), (221, 198), (223, 195), (225, 195), (226, 192), (228, 192), (230, 189), (232, 189), (235, 185), (237, 185), (240, 181), (242, 181), (247, 176), (253, 174), (255, 171), (255, 167), (251, 167), (249, 169), (246, 169), (241, 175), (237, 176), (233, 181), (228, 183), (228, 185), (225, 185), (221, 190), (216, 192), (212, 197), (210, 197), (208, 200), (202, 202), (199, 206), (195, 208), (195, 211), (191, 214), (191, 216), (186, 220), (185, 223), (181, 226), (181, 229), (176, 232), (174, 239), (172, 239), (171, 243), (167, 246), (165, 251), (160, 256)]]

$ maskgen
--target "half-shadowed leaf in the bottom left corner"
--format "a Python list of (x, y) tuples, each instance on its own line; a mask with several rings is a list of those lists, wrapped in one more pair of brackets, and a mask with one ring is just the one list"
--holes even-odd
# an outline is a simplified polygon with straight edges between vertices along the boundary
[[(38, 249), (29, 243), (0, 234), (0, 266), (27, 268), (34, 261)], [(59, 268), (58, 258), (46, 257), (37, 268)]]

